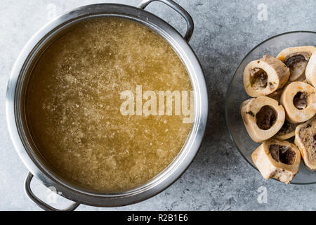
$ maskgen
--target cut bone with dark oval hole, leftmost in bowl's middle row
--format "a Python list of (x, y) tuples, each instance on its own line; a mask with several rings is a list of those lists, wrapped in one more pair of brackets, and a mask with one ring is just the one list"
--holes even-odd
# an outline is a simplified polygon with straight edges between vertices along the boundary
[(265, 141), (277, 134), (285, 120), (282, 105), (266, 96), (244, 101), (241, 114), (249, 136), (256, 142)]

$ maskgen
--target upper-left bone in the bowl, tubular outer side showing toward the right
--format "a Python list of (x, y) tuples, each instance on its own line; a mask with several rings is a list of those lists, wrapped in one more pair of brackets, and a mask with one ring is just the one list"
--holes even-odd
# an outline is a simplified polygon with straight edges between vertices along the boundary
[(281, 60), (265, 55), (244, 69), (244, 88), (251, 97), (267, 96), (289, 79), (289, 68)]

